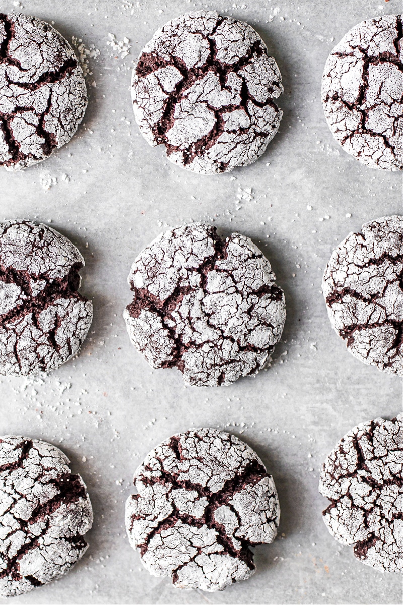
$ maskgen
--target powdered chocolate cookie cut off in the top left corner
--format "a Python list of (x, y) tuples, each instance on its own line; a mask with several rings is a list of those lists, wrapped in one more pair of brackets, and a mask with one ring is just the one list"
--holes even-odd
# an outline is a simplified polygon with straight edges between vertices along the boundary
[(0, 14), (0, 165), (21, 170), (67, 143), (87, 93), (73, 49), (51, 25)]

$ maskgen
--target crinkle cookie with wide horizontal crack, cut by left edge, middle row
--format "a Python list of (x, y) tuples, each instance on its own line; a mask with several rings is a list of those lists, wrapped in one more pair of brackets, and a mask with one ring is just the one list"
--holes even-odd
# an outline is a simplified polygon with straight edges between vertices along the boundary
[(79, 352), (92, 320), (76, 246), (50, 227), (0, 223), (0, 374), (37, 374)]

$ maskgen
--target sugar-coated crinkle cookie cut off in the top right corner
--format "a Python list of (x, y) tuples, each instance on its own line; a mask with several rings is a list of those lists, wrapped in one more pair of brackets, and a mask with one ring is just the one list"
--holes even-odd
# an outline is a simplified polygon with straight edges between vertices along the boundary
[(322, 79), (327, 124), (372, 168), (403, 168), (402, 16), (359, 23), (332, 50)]

